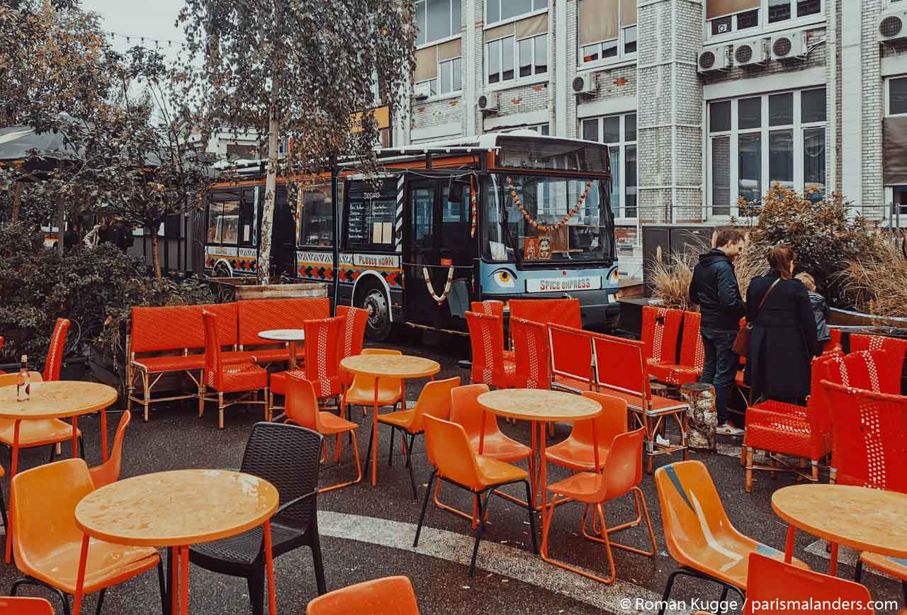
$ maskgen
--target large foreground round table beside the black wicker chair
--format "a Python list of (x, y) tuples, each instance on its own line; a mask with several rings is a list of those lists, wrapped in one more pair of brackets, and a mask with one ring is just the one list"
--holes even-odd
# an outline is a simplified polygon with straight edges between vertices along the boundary
[[(74, 613), (82, 604), (89, 539), (172, 549), (171, 609), (189, 612), (189, 545), (211, 542), (264, 525), (269, 612), (277, 612), (270, 518), (280, 495), (268, 481), (227, 470), (173, 470), (108, 484), (75, 507), (84, 532)], [(179, 603), (177, 596), (179, 595)]]

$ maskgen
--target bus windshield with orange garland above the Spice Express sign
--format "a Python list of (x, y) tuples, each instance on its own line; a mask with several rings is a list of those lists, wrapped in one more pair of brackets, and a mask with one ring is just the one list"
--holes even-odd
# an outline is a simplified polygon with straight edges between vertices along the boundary
[(613, 261), (614, 217), (608, 193), (602, 179), (491, 175), (484, 259), (527, 264)]

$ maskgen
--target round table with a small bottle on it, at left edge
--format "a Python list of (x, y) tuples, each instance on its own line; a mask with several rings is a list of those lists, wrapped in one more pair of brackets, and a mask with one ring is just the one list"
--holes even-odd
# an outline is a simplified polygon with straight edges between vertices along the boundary
[[(107, 412), (106, 408), (117, 400), (116, 389), (96, 382), (54, 380), (33, 382), (31, 398), (24, 402), (15, 400), (15, 385), (0, 386), (0, 419), (13, 421), (13, 453), (10, 460), (9, 480), (19, 467), (19, 429), (22, 421), (71, 418), (73, 420), (73, 457), (79, 456), (79, 430), (77, 418), (101, 411), (101, 456), (107, 461)], [(12, 526), (12, 507), (9, 510)], [(6, 530), (5, 561), (10, 562), (13, 542), (12, 532)]]

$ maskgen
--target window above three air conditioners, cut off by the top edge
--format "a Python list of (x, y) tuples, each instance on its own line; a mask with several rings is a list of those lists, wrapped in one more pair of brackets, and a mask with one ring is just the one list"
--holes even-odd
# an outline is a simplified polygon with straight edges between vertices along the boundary
[(783, 24), (822, 15), (824, 0), (706, 0), (706, 35), (720, 36), (750, 28)]

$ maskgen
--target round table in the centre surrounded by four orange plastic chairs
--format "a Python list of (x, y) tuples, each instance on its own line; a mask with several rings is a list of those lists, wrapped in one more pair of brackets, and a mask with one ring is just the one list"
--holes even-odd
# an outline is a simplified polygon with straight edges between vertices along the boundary
[[(545, 504), (548, 501), (548, 464), (545, 462), (545, 425), (551, 421), (581, 421), (594, 418), (601, 412), (601, 405), (594, 399), (541, 388), (502, 388), (479, 395), (477, 400), (485, 410), (495, 415), (507, 418), (532, 421), (532, 455), (538, 455), (539, 479), (538, 485), (532, 487), (532, 497), (535, 489), (541, 490), (541, 520), (545, 519)], [(484, 419), (483, 419), (484, 421)], [(538, 439), (536, 430), (540, 429)], [(484, 445), (484, 430), (479, 436), (479, 454), (482, 454)], [(536, 445), (536, 443), (541, 443)], [(595, 467), (599, 467), (599, 440), (592, 429), (592, 451)], [(532, 460), (532, 457), (530, 458)], [(530, 474), (534, 474), (532, 467)], [(533, 502), (534, 504), (534, 502)]]

